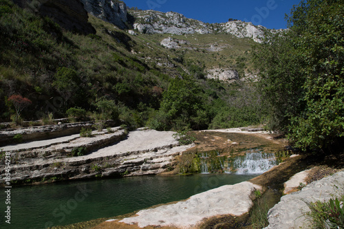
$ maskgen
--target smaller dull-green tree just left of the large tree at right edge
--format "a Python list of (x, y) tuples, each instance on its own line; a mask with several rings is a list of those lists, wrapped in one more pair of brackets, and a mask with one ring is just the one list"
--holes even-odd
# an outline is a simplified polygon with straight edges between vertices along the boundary
[(254, 60), (259, 69), (258, 86), (268, 107), (268, 127), (288, 133), (290, 119), (303, 109), (305, 77), (301, 74), (301, 54), (293, 43), (295, 33), (266, 34), (266, 40), (255, 47)]

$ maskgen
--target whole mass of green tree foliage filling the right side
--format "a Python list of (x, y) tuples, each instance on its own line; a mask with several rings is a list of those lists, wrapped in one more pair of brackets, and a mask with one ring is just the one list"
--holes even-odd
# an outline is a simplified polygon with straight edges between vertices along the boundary
[(290, 29), (257, 48), (271, 127), (303, 150), (342, 150), (343, 8), (339, 0), (301, 1), (287, 17)]

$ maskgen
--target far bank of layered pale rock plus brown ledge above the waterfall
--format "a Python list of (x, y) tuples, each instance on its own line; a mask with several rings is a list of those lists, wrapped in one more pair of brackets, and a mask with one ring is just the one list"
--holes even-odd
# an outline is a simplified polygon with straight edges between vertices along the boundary
[[(88, 126), (85, 126), (87, 124)], [(99, 179), (132, 175), (178, 174), (183, 155), (216, 150), (222, 157), (244, 155), (248, 149), (275, 152), (283, 150), (281, 140), (268, 133), (227, 129), (222, 132), (194, 131), (195, 144), (181, 146), (173, 131), (138, 129), (129, 133), (120, 127), (93, 131), (92, 138), (81, 138), (71, 127), (89, 127), (90, 123), (59, 124), (3, 130), (0, 134), (22, 133), (39, 140), (3, 146), (2, 154), (11, 154), (11, 181), (16, 184), (42, 184), (77, 179)], [(50, 132), (49, 132), (50, 130)], [(55, 133), (56, 132), (56, 133)], [(48, 133), (48, 134), (47, 134)], [(254, 134), (253, 134), (254, 133)], [(59, 135), (58, 138), (50, 138)], [(40, 140), (41, 138), (48, 138)], [(0, 160), (0, 165), (5, 161)], [(4, 166), (3, 166), (4, 168)], [(0, 185), (6, 173), (1, 169)]]

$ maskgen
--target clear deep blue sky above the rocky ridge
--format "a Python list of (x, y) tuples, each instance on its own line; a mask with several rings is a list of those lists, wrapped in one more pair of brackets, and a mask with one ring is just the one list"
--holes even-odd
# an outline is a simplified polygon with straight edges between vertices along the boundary
[(124, 0), (129, 7), (140, 10), (179, 12), (185, 17), (208, 23), (226, 22), (228, 19), (251, 21), (269, 29), (286, 28), (285, 14), (301, 0)]

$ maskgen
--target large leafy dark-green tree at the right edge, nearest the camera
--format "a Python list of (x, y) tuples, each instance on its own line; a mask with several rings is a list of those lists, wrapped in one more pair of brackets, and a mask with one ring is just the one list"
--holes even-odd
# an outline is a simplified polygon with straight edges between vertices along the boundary
[(292, 118), (290, 138), (302, 149), (334, 153), (344, 142), (344, 3), (301, 1), (288, 17), (298, 35), (305, 76), (303, 115)]

